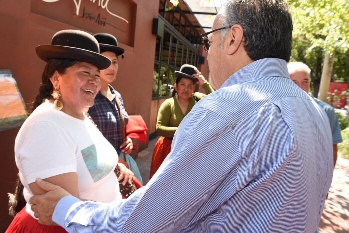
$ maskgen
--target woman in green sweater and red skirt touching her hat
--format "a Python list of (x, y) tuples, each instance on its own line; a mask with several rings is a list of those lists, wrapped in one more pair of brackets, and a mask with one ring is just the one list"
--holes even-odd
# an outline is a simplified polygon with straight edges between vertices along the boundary
[(196, 83), (199, 82), (207, 94), (214, 91), (211, 84), (193, 65), (182, 65), (180, 71), (174, 73), (177, 79), (174, 84), (172, 98), (165, 100), (158, 112), (156, 131), (161, 137), (153, 150), (150, 178), (170, 153), (172, 138), (180, 122), (190, 112), (195, 103), (206, 96), (200, 92), (194, 93)]

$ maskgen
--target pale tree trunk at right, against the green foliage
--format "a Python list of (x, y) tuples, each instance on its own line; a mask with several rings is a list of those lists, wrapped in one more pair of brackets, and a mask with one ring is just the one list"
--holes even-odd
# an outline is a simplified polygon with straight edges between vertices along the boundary
[(326, 101), (327, 92), (329, 90), (332, 69), (333, 69), (334, 54), (325, 54), (323, 72), (321, 74), (320, 87), (318, 93), (318, 99)]

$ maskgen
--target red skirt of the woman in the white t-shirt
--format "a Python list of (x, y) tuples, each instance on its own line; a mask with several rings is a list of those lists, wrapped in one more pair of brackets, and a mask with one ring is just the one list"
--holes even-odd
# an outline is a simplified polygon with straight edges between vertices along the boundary
[(16, 214), (6, 233), (66, 233), (60, 226), (47, 226), (39, 224), (39, 221), (31, 217), (25, 207)]

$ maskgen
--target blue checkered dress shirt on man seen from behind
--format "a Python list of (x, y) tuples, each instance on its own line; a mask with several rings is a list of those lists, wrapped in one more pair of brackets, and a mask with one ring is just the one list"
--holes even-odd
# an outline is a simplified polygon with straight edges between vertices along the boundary
[(314, 233), (333, 172), (329, 121), (286, 62), (255, 61), (200, 100), (147, 185), (121, 203), (62, 198), (69, 232)]

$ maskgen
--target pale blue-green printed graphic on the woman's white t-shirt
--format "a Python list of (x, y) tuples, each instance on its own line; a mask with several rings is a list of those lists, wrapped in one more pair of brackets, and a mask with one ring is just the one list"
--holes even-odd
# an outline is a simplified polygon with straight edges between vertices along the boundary
[(113, 164), (109, 161), (104, 161), (102, 158), (97, 158), (97, 151), (95, 144), (86, 147), (81, 151), (82, 158), (86, 164), (88, 171), (91, 174), (93, 182), (97, 182), (113, 169)]

